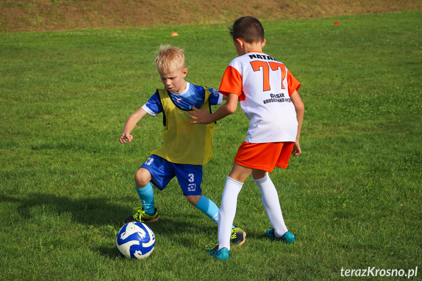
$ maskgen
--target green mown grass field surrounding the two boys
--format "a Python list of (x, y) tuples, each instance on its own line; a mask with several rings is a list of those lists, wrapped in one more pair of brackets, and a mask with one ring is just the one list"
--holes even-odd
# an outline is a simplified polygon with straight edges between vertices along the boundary
[[(114, 246), (140, 205), (134, 173), (161, 143), (161, 115), (118, 142), (162, 86), (154, 51), (185, 48), (187, 81), (218, 87), (236, 56), (227, 26), (0, 33), (0, 280), (335, 280), (342, 268), (421, 267), (421, 18), (263, 22), (264, 51), (302, 83), (306, 108), (302, 155), (271, 174), (297, 240), (264, 238), (269, 222), (249, 178), (235, 218), (246, 243), (227, 262), (206, 254), (217, 225), (175, 179), (155, 190), (151, 257), (121, 259)], [(240, 108), (216, 126), (202, 189), (217, 205), (247, 127)]]

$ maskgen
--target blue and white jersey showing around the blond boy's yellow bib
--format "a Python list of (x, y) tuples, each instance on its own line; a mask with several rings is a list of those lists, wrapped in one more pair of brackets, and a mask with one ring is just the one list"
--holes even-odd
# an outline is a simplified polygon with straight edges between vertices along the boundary
[[(210, 104), (212, 106), (221, 105), (222, 94), (219, 93), (218, 89), (208, 87), (207, 89), (212, 93), (210, 95)], [(186, 82), (186, 88), (183, 91), (179, 93), (170, 92), (170, 97), (179, 108), (192, 110), (193, 107), (200, 108), (204, 104), (205, 89), (203, 86)], [(162, 112), (163, 108), (161, 107), (158, 93), (155, 92), (142, 108), (152, 116), (157, 116), (158, 113)]]

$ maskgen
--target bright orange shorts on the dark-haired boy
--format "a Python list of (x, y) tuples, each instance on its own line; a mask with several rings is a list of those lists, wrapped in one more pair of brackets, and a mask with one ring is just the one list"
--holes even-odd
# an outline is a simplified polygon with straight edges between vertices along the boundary
[(287, 168), (294, 142), (243, 142), (234, 162), (251, 169), (272, 172), (274, 167)]

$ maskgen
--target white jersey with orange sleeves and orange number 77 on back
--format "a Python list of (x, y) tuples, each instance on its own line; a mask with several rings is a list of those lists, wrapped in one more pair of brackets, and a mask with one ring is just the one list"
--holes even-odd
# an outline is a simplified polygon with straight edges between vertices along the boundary
[(290, 95), (299, 87), (284, 64), (265, 53), (251, 52), (230, 62), (219, 91), (239, 96), (250, 121), (246, 142), (294, 142), (298, 123)]

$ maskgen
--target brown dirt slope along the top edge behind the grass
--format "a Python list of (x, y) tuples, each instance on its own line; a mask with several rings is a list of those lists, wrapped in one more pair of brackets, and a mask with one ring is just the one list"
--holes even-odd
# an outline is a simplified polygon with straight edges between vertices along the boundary
[(422, 9), (422, 0), (0, 0), (0, 31), (223, 23)]

